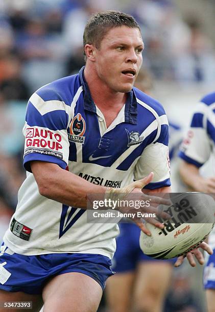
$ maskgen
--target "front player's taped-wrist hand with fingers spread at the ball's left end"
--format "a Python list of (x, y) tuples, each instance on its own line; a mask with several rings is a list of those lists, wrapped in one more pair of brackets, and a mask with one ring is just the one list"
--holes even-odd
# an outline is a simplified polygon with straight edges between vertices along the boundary
[(137, 212), (141, 212), (142, 214), (156, 214), (160, 215), (164, 220), (169, 219), (169, 215), (165, 212), (159, 212), (157, 206), (159, 204), (164, 205), (170, 205), (171, 201), (168, 199), (164, 199), (162, 197), (158, 196), (149, 196), (144, 193), (142, 193), (142, 188), (144, 188), (146, 185), (148, 185), (152, 179), (153, 179), (153, 172), (151, 172), (148, 176), (145, 178), (142, 178), (140, 180), (134, 181), (133, 183), (129, 184), (128, 186), (120, 189), (113, 189), (108, 188), (105, 193), (105, 198), (111, 199), (111, 200), (129, 200), (129, 201), (150, 201), (150, 206), (144, 206), (140, 207), (138, 210), (135, 209), (135, 207), (129, 207), (129, 206), (118, 206), (116, 209), (122, 213), (132, 213), (135, 215), (135, 217), (132, 217), (131, 220), (134, 221), (137, 226), (148, 236), (151, 236), (151, 232), (147, 227), (144, 225), (144, 220), (147, 220), (147, 222), (155, 225), (156, 227), (163, 228), (164, 225), (160, 222), (158, 222), (155, 218), (144, 218), (139, 217), (137, 215)]

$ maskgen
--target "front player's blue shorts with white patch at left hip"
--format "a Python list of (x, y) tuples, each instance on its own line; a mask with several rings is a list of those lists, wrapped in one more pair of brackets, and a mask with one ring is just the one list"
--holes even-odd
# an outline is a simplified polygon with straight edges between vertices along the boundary
[(100, 254), (52, 253), (26, 256), (3, 244), (0, 252), (0, 289), (9, 292), (41, 294), (45, 283), (56, 275), (79, 272), (92, 277), (104, 290), (113, 275), (111, 260)]

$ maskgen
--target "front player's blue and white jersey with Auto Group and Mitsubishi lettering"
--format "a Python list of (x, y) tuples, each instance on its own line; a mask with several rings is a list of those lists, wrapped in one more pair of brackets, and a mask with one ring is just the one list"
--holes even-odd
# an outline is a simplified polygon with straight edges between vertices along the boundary
[(147, 188), (170, 186), (168, 120), (159, 102), (134, 88), (107, 128), (79, 74), (64, 77), (30, 98), (24, 166), (27, 178), (6, 245), (16, 253), (97, 253), (112, 257), (118, 226), (87, 223), (84, 209), (39, 194), (30, 162), (58, 164), (95, 185), (120, 188), (154, 171)]

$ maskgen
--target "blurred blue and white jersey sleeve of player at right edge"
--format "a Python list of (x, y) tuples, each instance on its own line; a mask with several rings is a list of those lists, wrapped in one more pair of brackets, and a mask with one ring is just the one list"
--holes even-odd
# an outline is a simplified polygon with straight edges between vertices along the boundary
[(207, 105), (199, 103), (179, 151), (181, 159), (197, 167), (201, 167), (210, 157), (209, 111)]

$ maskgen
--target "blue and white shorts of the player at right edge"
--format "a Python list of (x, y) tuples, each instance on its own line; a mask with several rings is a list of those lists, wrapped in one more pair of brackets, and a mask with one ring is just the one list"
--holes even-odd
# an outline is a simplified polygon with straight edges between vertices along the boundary
[(205, 289), (215, 289), (215, 248), (213, 249), (213, 254), (208, 257), (203, 279)]

